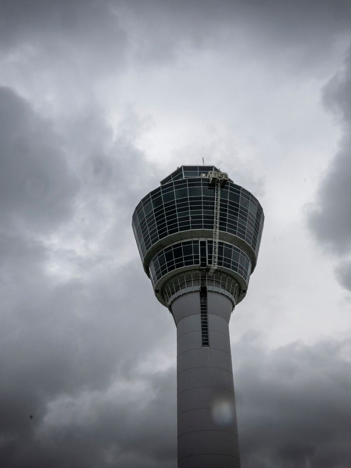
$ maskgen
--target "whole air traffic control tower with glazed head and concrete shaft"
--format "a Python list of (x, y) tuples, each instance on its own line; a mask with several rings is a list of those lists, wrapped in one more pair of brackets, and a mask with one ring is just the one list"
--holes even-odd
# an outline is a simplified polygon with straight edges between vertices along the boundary
[(178, 468), (240, 468), (229, 319), (254, 271), (263, 211), (215, 166), (181, 166), (133, 213), (156, 298), (177, 328)]

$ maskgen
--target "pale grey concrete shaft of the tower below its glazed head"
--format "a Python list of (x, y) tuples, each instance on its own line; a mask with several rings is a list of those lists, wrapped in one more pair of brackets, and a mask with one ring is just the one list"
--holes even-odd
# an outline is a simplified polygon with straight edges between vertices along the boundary
[(228, 322), (232, 303), (207, 292), (202, 346), (199, 292), (177, 298), (178, 468), (240, 468)]

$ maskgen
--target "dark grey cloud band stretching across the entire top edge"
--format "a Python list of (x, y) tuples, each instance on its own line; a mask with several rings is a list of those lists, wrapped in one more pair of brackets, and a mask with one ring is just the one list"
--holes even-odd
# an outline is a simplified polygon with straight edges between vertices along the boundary
[(127, 57), (138, 66), (160, 64), (189, 48), (219, 45), (230, 50), (255, 44), (257, 53), (251, 53), (256, 58), (266, 56), (267, 46), (271, 54), (288, 48), (289, 61), (309, 66), (323, 58), (333, 37), (351, 26), (345, 0), (3, 0), (1, 7), (3, 51), (17, 48), (35, 63), (39, 54), (41, 67), (49, 60), (55, 68), (59, 56), (81, 79), (88, 72), (89, 80), (97, 73), (116, 72)]

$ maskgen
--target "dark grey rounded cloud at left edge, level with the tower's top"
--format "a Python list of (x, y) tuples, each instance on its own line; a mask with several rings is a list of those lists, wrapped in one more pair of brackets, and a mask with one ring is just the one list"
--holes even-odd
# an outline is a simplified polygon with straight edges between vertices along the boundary
[(52, 125), (9, 88), (0, 88), (0, 221), (52, 230), (70, 217), (78, 180)]

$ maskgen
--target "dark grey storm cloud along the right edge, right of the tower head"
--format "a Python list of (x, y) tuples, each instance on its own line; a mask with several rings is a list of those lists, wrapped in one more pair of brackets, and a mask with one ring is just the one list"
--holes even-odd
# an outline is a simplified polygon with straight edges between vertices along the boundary
[[(344, 70), (336, 73), (323, 90), (327, 108), (341, 119), (343, 138), (308, 214), (309, 227), (317, 239), (340, 256), (351, 251), (351, 53)], [(350, 264), (337, 271), (340, 283), (351, 289)]]

